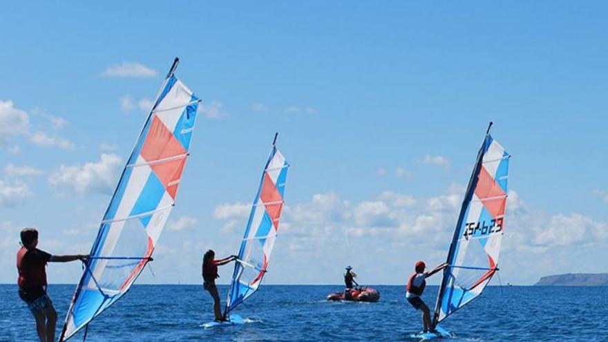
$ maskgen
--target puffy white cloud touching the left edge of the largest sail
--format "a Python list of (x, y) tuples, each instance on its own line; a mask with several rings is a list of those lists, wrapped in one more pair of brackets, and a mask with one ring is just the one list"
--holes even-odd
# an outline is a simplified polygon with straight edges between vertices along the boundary
[(115, 154), (102, 154), (99, 162), (84, 165), (61, 165), (50, 175), (48, 181), (55, 188), (64, 188), (78, 193), (112, 194), (120, 175), (122, 160)]

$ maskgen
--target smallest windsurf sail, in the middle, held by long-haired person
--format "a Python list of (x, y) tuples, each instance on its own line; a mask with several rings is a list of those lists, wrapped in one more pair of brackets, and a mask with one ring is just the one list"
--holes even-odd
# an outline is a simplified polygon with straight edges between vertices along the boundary
[(283, 209), (289, 164), (276, 149), (276, 137), (240, 243), (224, 316), (254, 294), (266, 274)]

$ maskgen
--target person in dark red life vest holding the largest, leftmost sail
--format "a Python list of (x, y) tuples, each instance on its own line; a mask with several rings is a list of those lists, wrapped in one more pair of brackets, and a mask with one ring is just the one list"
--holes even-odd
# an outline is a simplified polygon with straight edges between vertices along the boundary
[(17, 251), (17, 285), (19, 298), (26, 302), (36, 319), (36, 332), (41, 342), (55, 341), (57, 312), (46, 293), (46, 263), (67, 263), (86, 260), (87, 255), (56, 256), (37, 249), (38, 231), (34, 228), (21, 230), (21, 248)]

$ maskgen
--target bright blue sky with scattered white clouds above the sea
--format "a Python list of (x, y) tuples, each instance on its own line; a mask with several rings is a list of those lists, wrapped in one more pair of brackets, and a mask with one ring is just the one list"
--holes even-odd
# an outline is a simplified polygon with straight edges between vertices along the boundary
[[(446, 259), (488, 122), (513, 155), (492, 285), (608, 272), (608, 4), (128, 1), (3, 6), (0, 283), (19, 231), (87, 254), (175, 56), (203, 99), (152, 272), (236, 254), (275, 132), (291, 165), (267, 283), (403, 284)], [(48, 266), (76, 283), (78, 263)], [(228, 283), (232, 267), (220, 267)], [(438, 283), (439, 276), (430, 283)]]

